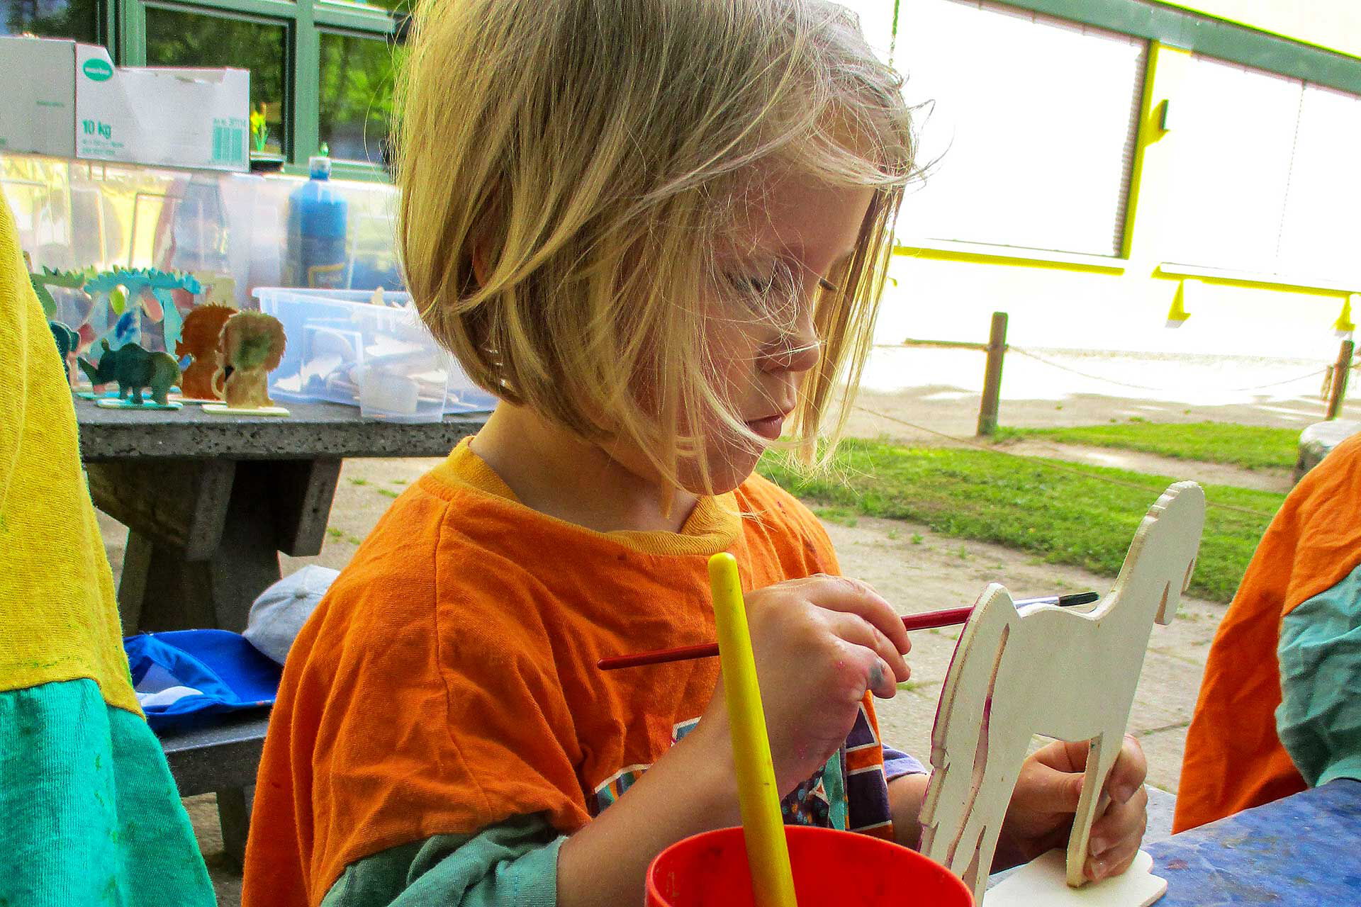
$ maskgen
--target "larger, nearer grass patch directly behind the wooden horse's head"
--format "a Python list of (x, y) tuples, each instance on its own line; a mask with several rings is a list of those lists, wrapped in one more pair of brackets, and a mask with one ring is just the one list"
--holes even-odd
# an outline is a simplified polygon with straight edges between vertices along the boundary
[[(947, 536), (1019, 548), (1106, 577), (1120, 571), (1145, 511), (1173, 481), (1102, 466), (1081, 466), (1083, 475), (1074, 475), (1071, 464), (1000, 451), (856, 439), (842, 442), (827, 475), (804, 476), (781, 454), (768, 454), (759, 469), (800, 498), (845, 509), (845, 515), (923, 522)], [(1206, 485), (1206, 498), (1255, 511), (1210, 506), (1206, 513), (1191, 593), (1229, 601), (1285, 495)]]

